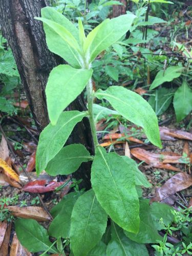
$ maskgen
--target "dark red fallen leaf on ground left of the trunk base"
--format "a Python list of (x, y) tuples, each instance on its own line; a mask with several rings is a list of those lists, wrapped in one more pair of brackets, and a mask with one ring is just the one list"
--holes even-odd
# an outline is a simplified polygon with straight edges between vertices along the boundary
[(61, 186), (65, 181), (57, 182), (51, 181), (47, 184), (47, 180), (35, 180), (28, 182), (22, 190), (31, 193), (45, 193), (54, 191), (57, 187)]

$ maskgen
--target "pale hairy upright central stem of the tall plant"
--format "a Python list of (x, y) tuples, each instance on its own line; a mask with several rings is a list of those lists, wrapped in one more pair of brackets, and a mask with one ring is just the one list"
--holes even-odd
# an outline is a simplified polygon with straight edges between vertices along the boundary
[(91, 133), (93, 136), (93, 142), (94, 147), (98, 146), (98, 140), (97, 140), (97, 132), (95, 128), (95, 121), (94, 121), (94, 115), (93, 115), (93, 86), (92, 86), (92, 80), (90, 78), (88, 84), (87, 84), (87, 99), (88, 99), (88, 112), (89, 112), (89, 121), (91, 126)]

